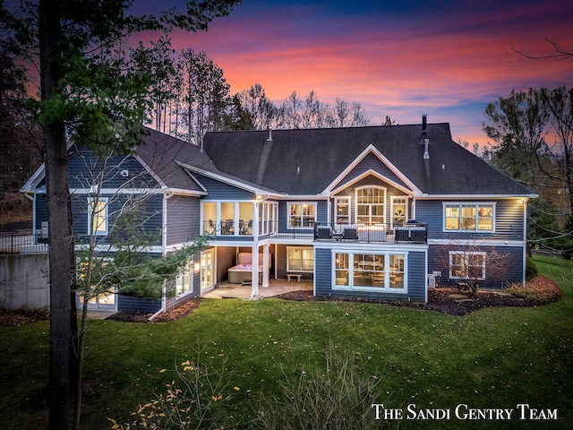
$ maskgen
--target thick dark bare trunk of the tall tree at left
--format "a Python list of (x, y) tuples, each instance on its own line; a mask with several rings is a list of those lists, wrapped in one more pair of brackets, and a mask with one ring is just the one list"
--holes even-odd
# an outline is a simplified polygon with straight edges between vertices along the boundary
[[(41, 98), (55, 96), (60, 78), (62, 40), (61, 5), (58, 0), (39, 2)], [(44, 124), (48, 207), (50, 272), (49, 420), (50, 430), (66, 430), (69, 421), (71, 278), (73, 243), (70, 196), (67, 181), (67, 150), (64, 124)]]

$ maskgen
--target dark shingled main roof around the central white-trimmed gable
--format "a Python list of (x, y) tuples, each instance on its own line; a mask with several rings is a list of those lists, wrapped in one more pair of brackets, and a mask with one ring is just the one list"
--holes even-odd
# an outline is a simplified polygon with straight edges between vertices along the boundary
[(211, 132), (204, 149), (220, 171), (294, 195), (320, 194), (370, 145), (421, 195), (535, 195), (453, 142), (449, 124), (427, 137), (429, 159), (422, 125)]

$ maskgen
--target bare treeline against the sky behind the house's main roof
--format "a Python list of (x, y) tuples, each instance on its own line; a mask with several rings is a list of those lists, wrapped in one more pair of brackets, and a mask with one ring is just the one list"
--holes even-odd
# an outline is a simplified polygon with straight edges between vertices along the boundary
[(223, 70), (204, 51), (187, 49), (173, 56), (167, 43), (156, 47), (155, 57), (144, 48), (133, 56), (155, 76), (150, 88), (153, 126), (187, 142), (200, 144), (209, 131), (372, 124), (360, 103), (336, 98), (331, 106), (321, 102), (313, 90), (303, 97), (294, 90), (279, 106), (260, 83), (233, 94)]

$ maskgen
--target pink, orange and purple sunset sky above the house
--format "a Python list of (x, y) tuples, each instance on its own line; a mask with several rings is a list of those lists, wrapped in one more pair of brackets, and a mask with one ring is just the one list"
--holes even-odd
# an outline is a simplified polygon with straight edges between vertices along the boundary
[(573, 52), (570, 0), (244, 0), (208, 32), (172, 41), (204, 50), (232, 93), (261, 83), (280, 105), (293, 90), (314, 90), (325, 103), (359, 102), (374, 124), (387, 115), (418, 124), (427, 114), (471, 145), (487, 141), (489, 102), (512, 89), (573, 86), (573, 58), (512, 50), (552, 54), (545, 38)]

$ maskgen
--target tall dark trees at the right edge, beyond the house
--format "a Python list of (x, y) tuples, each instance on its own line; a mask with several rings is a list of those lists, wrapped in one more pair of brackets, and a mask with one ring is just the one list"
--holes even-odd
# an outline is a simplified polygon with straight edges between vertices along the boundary
[(492, 163), (540, 195), (531, 205), (530, 239), (565, 250), (573, 248), (561, 240), (573, 233), (572, 106), (573, 90), (565, 87), (512, 90), (486, 107), (483, 124), (494, 141)]

